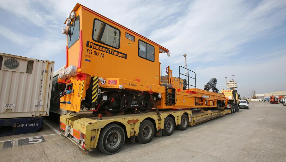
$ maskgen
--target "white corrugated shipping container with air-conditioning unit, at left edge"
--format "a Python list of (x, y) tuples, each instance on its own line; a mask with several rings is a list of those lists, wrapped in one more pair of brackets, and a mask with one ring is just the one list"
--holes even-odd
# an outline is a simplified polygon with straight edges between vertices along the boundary
[(0, 53), (0, 119), (49, 115), (54, 61)]

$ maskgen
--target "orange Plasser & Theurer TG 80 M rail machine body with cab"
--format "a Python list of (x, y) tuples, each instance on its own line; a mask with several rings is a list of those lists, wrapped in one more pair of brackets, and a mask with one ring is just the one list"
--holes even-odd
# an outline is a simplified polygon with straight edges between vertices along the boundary
[(219, 93), (196, 86), (183, 88), (187, 83), (173, 77), (169, 67), (168, 75), (162, 76), (159, 53), (169, 54), (163, 46), (79, 3), (72, 12), (75, 18), (65, 22), (70, 25), (67, 31), (73, 33), (67, 35), (66, 68), (76, 66), (77, 74), (59, 79), (59, 83), (72, 84), (71, 93), (60, 99), (61, 108), (79, 112), (94, 101), (96, 106), (90, 108), (98, 109), (99, 94), (108, 89), (138, 93), (139, 97), (141, 93), (145, 99), (151, 93), (154, 98), (149, 100), (155, 100), (159, 109), (217, 107), (217, 101), (224, 101), (225, 96)]

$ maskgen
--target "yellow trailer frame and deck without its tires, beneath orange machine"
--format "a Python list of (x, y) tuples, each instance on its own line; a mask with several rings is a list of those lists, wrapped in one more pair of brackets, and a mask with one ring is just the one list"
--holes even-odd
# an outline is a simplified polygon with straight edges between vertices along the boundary
[[(227, 113), (231, 113), (229, 109), (224, 110), (168, 110), (160, 111), (160, 118), (156, 112), (148, 112), (141, 114), (125, 114), (112, 117), (102, 117), (100, 120), (95, 114), (81, 112), (60, 117), (60, 125), (62, 135), (73, 139), (75, 143), (85, 151), (91, 151), (97, 148), (102, 128), (110, 124), (116, 124), (124, 129), (126, 138), (131, 141), (135, 140), (135, 136), (140, 135), (140, 125), (143, 121), (149, 120), (154, 124), (155, 134), (161, 135), (164, 131), (165, 120), (171, 117), (174, 126), (181, 125), (183, 115), (188, 117), (187, 125), (193, 126), (201, 122), (221, 117)], [(168, 129), (165, 128), (165, 129)], [(101, 140), (101, 139), (100, 139)]]

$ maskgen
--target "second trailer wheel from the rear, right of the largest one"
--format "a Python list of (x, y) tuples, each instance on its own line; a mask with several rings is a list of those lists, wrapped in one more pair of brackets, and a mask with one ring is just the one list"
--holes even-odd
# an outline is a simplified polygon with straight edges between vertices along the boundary
[(136, 136), (136, 141), (139, 143), (149, 143), (152, 141), (155, 133), (155, 128), (150, 120), (143, 120), (140, 123), (139, 133)]

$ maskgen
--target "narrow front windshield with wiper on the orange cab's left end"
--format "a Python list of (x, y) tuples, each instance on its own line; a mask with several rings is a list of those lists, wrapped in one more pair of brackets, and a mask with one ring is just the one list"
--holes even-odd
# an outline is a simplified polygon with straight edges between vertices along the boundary
[(70, 48), (80, 38), (80, 16), (68, 28), (67, 46)]

